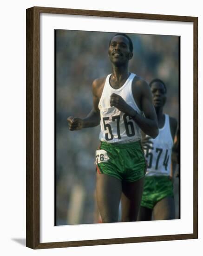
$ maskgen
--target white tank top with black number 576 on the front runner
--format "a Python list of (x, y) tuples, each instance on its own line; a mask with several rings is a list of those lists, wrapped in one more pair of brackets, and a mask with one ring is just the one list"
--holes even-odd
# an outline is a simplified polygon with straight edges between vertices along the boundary
[(120, 95), (124, 101), (142, 115), (132, 95), (132, 81), (135, 74), (130, 74), (121, 88), (114, 89), (109, 83), (111, 74), (107, 75), (105, 86), (98, 104), (101, 115), (100, 141), (108, 143), (128, 143), (141, 140), (140, 128), (132, 118), (115, 107), (110, 106), (111, 94)]

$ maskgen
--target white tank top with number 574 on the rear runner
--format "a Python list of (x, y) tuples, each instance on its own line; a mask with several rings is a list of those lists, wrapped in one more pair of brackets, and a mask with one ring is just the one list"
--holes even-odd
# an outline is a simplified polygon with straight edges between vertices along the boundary
[(169, 176), (173, 139), (170, 133), (168, 115), (165, 115), (164, 127), (159, 129), (158, 136), (151, 139), (151, 141), (153, 141), (153, 149), (144, 150), (145, 159), (147, 160), (146, 176)]

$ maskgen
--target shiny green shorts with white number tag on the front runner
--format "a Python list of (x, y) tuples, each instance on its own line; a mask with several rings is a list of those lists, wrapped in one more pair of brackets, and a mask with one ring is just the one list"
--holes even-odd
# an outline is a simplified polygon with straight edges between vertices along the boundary
[(101, 141), (96, 151), (96, 164), (98, 173), (126, 182), (143, 178), (146, 169), (140, 141), (124, 144)]

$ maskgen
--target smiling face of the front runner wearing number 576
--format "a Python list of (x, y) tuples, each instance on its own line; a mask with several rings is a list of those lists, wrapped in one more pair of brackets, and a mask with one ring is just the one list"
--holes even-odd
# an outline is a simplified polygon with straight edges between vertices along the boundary
[(117, 35), (111, 39), (109, 46), (109, 58), (115, 65), (122, 65), (132, 58), (129, 41), (126, 37)]

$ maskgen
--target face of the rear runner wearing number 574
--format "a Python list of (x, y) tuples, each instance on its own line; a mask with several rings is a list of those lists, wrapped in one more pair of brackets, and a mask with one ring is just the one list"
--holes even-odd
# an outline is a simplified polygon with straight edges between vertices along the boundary
[(166, 91), (164, 85), (161, 82), (154, 82), (151, 85), (151, 93), (154, 107), (163, 107), (166, 102)]

